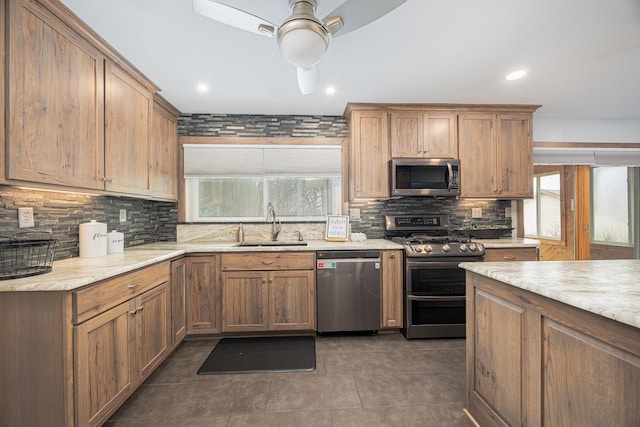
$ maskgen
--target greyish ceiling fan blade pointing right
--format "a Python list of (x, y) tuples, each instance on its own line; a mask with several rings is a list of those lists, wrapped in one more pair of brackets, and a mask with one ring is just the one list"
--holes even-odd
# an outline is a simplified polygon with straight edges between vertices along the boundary
[(342, 18), (344, 25), (335, 30), (334, 34), (334, 37), (339, 37), (383, 17), (406, 1), (407, 0), (347, 0), (330, 12), (322, 21), (327, 23), (331, 22), (332, 18)]

